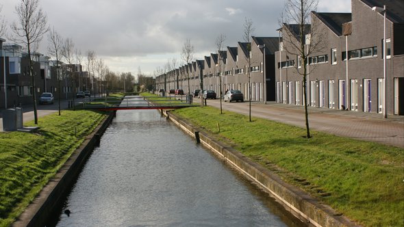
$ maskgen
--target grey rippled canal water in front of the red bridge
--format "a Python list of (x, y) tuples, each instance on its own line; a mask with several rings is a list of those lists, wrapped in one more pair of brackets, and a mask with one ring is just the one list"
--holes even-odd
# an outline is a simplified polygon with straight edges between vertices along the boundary
[(56, 216), (49, 226), (303, 226), (155, 110), (117, 112)]

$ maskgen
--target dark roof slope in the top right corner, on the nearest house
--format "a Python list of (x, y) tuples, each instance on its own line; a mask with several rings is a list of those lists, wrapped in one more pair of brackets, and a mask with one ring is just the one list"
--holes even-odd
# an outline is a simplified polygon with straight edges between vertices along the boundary
[(370, 8), (379, 6), (383, 8), (386, 5), (386, 17), (392, 23), (404, 24), (404, 1), (403, 0), (359, 0)]

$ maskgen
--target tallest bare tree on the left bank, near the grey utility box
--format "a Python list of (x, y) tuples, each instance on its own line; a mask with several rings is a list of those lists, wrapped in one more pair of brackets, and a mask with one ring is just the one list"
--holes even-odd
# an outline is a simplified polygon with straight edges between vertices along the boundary
[(18, 21), (14, 21), (11, 25), (11, 29), (15, 34), (13, 39), (18, 43), (24, 44), (28, 51), (29, 76), (31, 77), (35, 124), (38, 124), (38, 113), (36, 110), (36, 75), (34, 75), (34, 62), (31, 58), (31, 51), (33, 50), (31, 47), (38, 44), (42, 39), (42, 36), (47, 33), (49, 29), (47, 25), (47, 15), (38, 6), (38, 0), (21, 0), (21, 3), (15, 7)]

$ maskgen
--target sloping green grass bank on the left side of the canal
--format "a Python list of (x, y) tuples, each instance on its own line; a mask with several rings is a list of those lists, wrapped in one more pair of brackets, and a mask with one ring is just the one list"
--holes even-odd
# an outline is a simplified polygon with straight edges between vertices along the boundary
[(105, 116), (65, 110), (38, 118), (35, 133), (0, 133), (0, 226), (18, 217)]

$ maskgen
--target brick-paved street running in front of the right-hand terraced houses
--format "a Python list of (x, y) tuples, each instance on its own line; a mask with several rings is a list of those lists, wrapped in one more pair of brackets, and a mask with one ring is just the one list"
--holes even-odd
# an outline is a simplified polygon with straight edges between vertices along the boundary
[[(199, 99), (195, 99), (194, 102), (199, 102)], [(220, 108), (220, 101), (209, 99), (207, 105)], [(249, 114), (248, 101), (244, 103), (222, 101), (222, 108)], [(303, 106), (252, 102), (251, 116), (305, 128)], [(389, 115), (384, 119), (381, 114), (309, 107), (309, 125), (314, 131), (404, 148), (404, 116)]]

